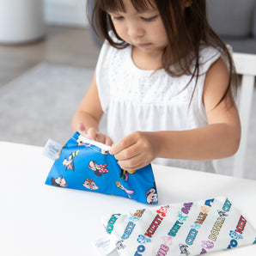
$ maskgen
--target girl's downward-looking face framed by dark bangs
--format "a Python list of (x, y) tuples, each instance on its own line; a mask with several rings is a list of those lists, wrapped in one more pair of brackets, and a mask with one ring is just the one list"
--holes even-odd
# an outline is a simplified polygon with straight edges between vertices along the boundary
[(158, 10), (149, 6), (143, 12), (138, 12), (130, 0), (123, 2), (125, 12), (108, 13), (119, 37), (140, 51), (162, 54), (168, 39)]

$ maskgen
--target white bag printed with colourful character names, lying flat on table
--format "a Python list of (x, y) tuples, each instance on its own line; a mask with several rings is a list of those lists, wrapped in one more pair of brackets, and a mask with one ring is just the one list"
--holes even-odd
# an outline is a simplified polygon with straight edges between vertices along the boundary
[(125, 256), (192, 256), (256, 243), (256, 230), (224, 197), (113, 214), (103, 222), (109, 243)]

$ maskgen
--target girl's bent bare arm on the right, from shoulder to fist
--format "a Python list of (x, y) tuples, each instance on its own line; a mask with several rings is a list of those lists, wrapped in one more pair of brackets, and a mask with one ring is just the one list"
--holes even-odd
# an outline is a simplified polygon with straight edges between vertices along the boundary
[(111, 153), (128, 171), (142, 168), (156, 157), (212, 160), (234, 155), (240, 144), (241, 125), (232, 95), (217, 105), (228, 82), (229, 71), (219, 58), (204, 82), (208, 125), (187, 131), (136, 131), (113, 145)]

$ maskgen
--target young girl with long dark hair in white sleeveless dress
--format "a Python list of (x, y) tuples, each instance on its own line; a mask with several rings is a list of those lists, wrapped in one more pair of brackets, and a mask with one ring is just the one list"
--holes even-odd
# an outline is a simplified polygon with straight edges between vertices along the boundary
[(112, 145), (128, 171), (157, 158), (213, 172), (211, 160), (238, 149), (241, 125), (232, 58), (206, 20), (205, 0), (95, 2), (106, 40), (73, 130)]

